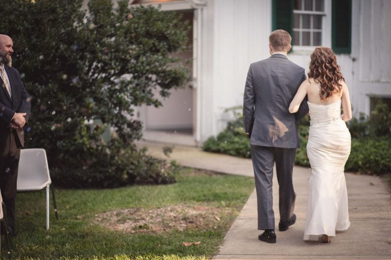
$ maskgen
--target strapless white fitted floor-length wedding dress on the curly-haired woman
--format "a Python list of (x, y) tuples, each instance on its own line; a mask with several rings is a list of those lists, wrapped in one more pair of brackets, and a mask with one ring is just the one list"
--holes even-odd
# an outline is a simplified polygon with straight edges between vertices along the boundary
[(351, 138), (341, 118), (341, 100), (308, 105), (311, 125), (307, 154), (312, 175), (304, 240), (318, 241), (322, 234), (336, 236), (336, 230), (347, 230), (350, 225), (344, 167)]

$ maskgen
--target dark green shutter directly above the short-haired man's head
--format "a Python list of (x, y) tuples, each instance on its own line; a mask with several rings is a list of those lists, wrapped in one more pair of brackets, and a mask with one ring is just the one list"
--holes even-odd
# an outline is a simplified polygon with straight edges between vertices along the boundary
[[(272, 31), (283, 29), (289, 32), (293, 39), (293, 5), (294, 0), (272, 0), (271, 26)], [(292, 40), (293, 42), (293, 40)], [(292, 49), (290, 50), (290, 52)]]

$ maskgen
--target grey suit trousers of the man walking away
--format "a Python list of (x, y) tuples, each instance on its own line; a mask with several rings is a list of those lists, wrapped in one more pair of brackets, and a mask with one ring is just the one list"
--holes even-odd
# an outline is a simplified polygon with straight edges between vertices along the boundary
[(258, 201), (258, 230), (274, 230), (273, 167), (279, 185), (280, 221), (287, 221), (293, 214), (296, 193), (293, 189), (292, 171), (296, 148), (251, 146), (255, 187)]

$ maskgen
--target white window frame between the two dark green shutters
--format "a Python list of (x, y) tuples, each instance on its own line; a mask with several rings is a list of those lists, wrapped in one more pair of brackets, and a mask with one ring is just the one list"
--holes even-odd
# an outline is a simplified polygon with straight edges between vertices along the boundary
[[(324, 0), (324, 11), (303, 11), (303, 10), (293, 10), (294, 14), (319, 14), (322, 15), (322, 29), (305, 29), (309, 31), (321, 31), (322, 32), (322, 40), (321, 40), (321, 46), (327, 46), (331, 47), (331, 1)], [(300, 19), (301, 20), (301, 19)], [(301, 21), (300, 21), (301, 22)], [(292, 24), (292, 31), (293, 31), (293, 24)], [(293, 45), (293, 52), (294, 53), (311, 53), (314, 51), (314, 47), (316, 46), (301, 46), (301, 45)]]

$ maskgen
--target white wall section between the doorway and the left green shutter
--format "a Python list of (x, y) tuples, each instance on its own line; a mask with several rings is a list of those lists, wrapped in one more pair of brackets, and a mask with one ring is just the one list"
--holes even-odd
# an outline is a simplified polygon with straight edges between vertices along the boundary
[(212, 0), (204, 11), (202, 141), (224, 129), (225, 108), (243, 104), (249, 64), (269, 56), (271, 2)]

